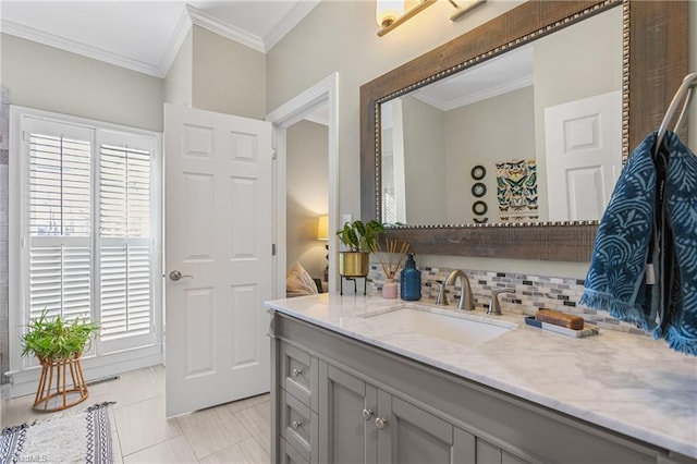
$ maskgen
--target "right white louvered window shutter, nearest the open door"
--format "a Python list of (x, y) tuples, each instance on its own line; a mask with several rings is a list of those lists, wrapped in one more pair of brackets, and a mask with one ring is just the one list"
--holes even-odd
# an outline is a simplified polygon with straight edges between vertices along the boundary
[[(99, 169), (102, 339), (151, 333), (149, 141), (105, 136)], [(146, 147), (146, 148), (142, 148)]]

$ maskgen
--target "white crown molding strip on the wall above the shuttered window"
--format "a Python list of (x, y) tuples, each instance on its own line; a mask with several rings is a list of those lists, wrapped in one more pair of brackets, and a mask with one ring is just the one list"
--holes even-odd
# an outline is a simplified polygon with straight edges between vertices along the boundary
[(42, 30), (35, 29), (12, 21), (2, 20), (2, 32), (16, 36), (23, 39), (36, 41), (47, 45), (49, 47), (58, 48), (61, 50), (70, 51), (71, 53), (81, 54), (83, 57), (91, 58), (95, 60), (103, 61), (109, 64), (125, 68), (139, 73), (149, 74), (152, 76), (161, 77), (159, 70), (149, 63), (133, 60), (127, 57), (123, 57), (118, 53), (112, 53), (107, 50), (102, 50), (98, 47), (81, 44), (64, 37), (59, 37), (53, 34), (45, 33)]

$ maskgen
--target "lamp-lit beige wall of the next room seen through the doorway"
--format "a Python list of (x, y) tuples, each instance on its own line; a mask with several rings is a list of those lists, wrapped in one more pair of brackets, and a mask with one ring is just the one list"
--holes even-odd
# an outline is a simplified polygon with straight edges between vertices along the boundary
[(317, 218), (329, 210), (329, 131), (301, 121), (288, 129), (286, 144), (286, 265), (290, 269), (299, 261), (321, 278), (327, 242), (317, 241)]

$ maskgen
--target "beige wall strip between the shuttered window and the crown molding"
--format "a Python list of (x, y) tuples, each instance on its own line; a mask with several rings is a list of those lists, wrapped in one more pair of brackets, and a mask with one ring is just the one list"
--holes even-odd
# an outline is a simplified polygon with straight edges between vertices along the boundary
[(2, 35), (12, 105), (162, 132), (162, 80)]

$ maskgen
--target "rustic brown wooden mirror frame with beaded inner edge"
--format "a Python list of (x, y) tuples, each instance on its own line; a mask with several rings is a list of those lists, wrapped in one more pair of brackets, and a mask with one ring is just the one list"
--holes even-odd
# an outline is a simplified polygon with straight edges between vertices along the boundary
[[(687, 73), (686, 1), (529, 0), (360, 87), (362, 218), (381, 220), (380, 105), (594, 16), (623, 11), (622, 145), (626, 156), (658, 129)], [(389, 228), (419, 254), (584, 262), (598, 221)]]

